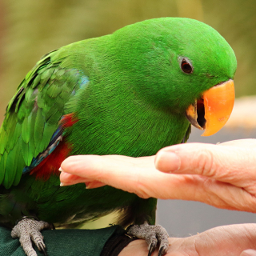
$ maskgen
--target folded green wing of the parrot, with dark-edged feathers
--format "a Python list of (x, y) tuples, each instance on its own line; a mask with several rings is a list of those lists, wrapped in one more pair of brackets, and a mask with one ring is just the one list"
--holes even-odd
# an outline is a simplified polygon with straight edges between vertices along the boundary
[[(88, 81), (82, 68), (72, 66), (68, 50), (46, 54), (18, 86), (6, 108), (0, 129), (0, 184), (17, 185), (22, 171), (46, 150), (64, 114), (66, 102)], [(31, 168), (28, 168), (29, 170)]]

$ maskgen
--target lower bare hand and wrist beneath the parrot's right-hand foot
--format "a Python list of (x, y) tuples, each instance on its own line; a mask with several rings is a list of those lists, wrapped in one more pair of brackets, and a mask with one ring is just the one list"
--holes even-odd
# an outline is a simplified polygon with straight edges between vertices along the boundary
[[(169, 238), (166, 256), (255, 256), (255, 241), (256, 224), (218, 226), (188, 238)], [(146, 242), (135, 240), (119, 256), (146, 256), (147, 253)], [(157, 256), (157, 251), (152, 256)]]

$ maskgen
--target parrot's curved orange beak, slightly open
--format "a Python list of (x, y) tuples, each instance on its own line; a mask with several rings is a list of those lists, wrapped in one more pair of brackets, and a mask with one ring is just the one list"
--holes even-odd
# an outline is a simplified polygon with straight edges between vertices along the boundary
[(230, 118), (234, 106), (234, 81), (222, 82), (202, 94), (186, 110), (186, 118), (200, 130), (202, 136), (210, 136), (221, 130)]

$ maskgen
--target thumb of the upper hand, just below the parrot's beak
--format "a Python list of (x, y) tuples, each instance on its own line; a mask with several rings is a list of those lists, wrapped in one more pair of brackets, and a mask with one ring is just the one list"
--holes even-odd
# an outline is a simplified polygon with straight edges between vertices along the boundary
[[(256, 142), (256, 140), (252, 140)], [(213, 145), (187, 143), (166, 147), (158, 152), (155, 166), (174, 174), (198, 174), (222, 182), (256, 180), (256, 146), (236, 143)]]

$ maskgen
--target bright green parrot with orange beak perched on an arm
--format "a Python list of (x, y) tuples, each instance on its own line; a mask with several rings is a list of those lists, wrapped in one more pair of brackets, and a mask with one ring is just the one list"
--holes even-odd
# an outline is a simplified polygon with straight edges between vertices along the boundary
[[(46, 54), (18, 86), (0, 130), (0, 223), (29, 256), (27, 233), (46, 254), (34, 230), (117, 210), (120, 225), (134, 224), (130, 234), (156, 233), (156, 198), (60, 186), (58, 169), (75, 154), (156, 154), (186, 142), (191, 124), (214, 134), (234, 105), (236, 67), (226, 40), (190, 18), (150, 19)], [(168, 234), (159, 229), (163, 255)], [(157, 242), (146, 242), (151, 254)]]

